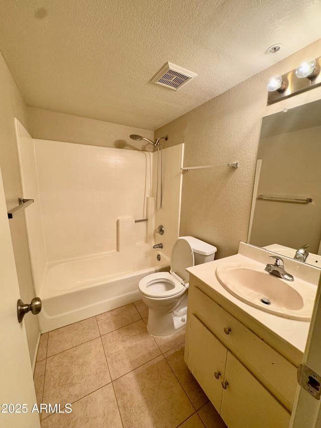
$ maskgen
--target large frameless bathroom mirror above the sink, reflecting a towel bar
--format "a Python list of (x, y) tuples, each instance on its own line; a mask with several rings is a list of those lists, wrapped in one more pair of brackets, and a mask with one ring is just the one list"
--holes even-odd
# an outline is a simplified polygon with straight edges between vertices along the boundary
[(321, 100), (263, 117), (248, 243), (321, 267), (320, 188)]

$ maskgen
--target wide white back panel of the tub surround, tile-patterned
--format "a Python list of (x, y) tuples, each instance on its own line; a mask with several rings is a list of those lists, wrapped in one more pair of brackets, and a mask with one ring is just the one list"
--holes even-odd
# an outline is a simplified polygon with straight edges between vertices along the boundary
[[(134, 219), (147, 215), (150, 153), (37, 139), (34, 148), (37, 169), (28, 169), (29, 160), (23, 175), (25, 182), (27, 176), (29, 183), (39, 180), (48, 263), (116, 251), (118, 219), (131, 218), (130, 247), (146, 242), (146, 223)], [(118, 232), (124, 243), (123, 226)], [(128, 244), (128, 234), (126, 239)], [(37, 244), (31, 248), (38, 250)]]

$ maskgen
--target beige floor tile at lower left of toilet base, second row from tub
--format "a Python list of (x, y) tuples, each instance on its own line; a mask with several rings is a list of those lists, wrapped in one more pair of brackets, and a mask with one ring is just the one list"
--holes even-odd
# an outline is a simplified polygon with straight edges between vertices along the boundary
[(101, 337), (111, 379), (117, 379), (161, 354), (142, 320)]

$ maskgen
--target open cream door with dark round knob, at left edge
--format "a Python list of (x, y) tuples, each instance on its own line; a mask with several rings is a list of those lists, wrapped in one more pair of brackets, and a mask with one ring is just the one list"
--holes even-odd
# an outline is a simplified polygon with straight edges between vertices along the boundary
[(17, 318), (20, 293), (1, 171), (0, 290), (0, 426), (37, 428), (39, 414), (31, 413), (37, 401), (26, 330)]

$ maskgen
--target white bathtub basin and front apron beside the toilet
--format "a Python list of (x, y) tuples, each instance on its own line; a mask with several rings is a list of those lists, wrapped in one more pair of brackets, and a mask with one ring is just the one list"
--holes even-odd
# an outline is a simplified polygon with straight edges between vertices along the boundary
[[(160, 261), (157, 254), (161, 255)], [(45, 333), (135, 302), (140, 299), (140, 279), (169, 267), (169, 257), (150, 250), (148, 245), (50, 263), (39, 291), (40, 330)]]

